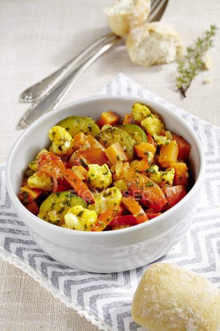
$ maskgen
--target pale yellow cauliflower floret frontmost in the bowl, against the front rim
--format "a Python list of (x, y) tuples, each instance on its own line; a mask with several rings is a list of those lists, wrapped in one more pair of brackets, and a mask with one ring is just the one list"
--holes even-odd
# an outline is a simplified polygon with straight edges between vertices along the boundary
[(97, 220), (97, 213), (76, 205), (70, 208), (64, 216), (65, 224), (62, 226), (71, 230), (91, 231)]

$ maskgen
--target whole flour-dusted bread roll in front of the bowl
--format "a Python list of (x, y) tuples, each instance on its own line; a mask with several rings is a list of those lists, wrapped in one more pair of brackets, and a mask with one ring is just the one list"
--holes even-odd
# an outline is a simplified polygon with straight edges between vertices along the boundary
[(155, 263), (135, 292), (132, 317), (150, 331), (217, 331), (220, 291), (191, 271)]

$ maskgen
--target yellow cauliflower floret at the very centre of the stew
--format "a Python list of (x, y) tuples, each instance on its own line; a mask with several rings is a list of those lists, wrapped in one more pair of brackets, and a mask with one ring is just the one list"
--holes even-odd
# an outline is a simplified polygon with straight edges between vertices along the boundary
[(112, 183), (112, 175), (107, 164), (103, 164), (103, 166), (89, 164), (87, 181), (92, 187), (107, 188)]

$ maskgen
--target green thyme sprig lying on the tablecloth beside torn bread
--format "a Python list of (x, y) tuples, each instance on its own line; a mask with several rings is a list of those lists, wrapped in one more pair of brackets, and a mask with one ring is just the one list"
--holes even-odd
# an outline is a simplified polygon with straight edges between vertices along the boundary
[(198, 38), (195, 45), (186, 48), (186, 56), (182, 61), (178, 61), (177, 88), (186, 97), (186, 91), (190, 87), (192, 80), (203, 68), (203, 56), (205, 52), (213, 46), (213, 37), (216, 34), (216, 25), (210, 25), (202, 38)]

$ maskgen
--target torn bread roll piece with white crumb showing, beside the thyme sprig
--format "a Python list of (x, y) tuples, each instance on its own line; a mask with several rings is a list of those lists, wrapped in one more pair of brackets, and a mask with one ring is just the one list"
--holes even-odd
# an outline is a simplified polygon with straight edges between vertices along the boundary
[(131, 61), (148, 67), (175, 61), (182, 57), (183, 43), (172, 26), (152, 22), (133, 29), (126, 46)]

